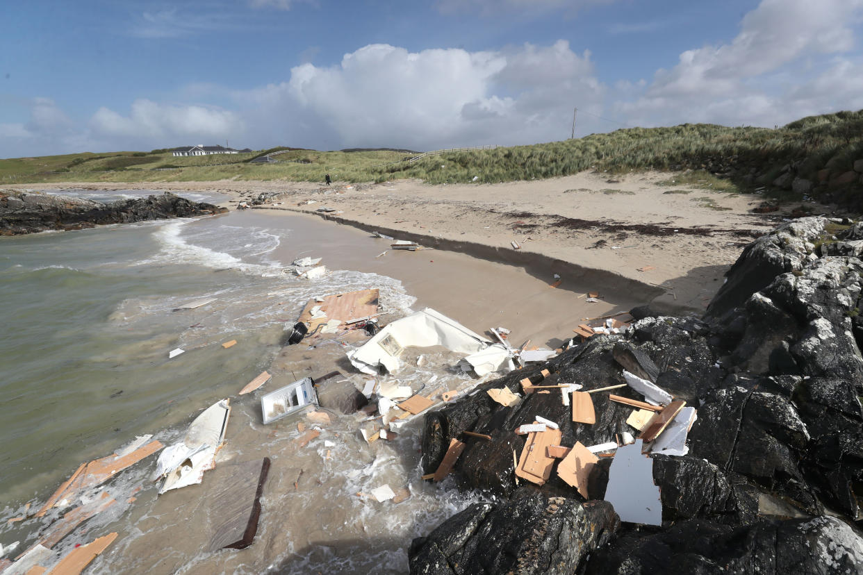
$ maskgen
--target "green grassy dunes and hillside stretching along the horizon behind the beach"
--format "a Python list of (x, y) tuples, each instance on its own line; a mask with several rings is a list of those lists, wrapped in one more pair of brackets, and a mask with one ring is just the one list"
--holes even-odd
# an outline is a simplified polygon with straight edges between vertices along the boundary
[(777, 129), (713, 124), (627, 128), (577, 140), (444, 153), (415, 162), (404, 161), (412, 154), (398, 151), (292, 149), (274, 156), (277, 164), (248, 163), (265, 152), (191, 158), (122, 152), (3, 159), (0, 183), (223, 178), (321, 181), (329, 172), (342, 181), (420, 178), (443, 184), (475, 181), (475, 177), (481, 183), (552, 178), (587, 169), (610, 173), (692, 169), (725, 178), (732, 184), (726, 188), (730, 190), (766, 186), (774, 195), (807, 193), (847, 201), (861, 196), (860, 179), (853, 170), (854, 161), (863, 159), (863, 110), (809, 116)]

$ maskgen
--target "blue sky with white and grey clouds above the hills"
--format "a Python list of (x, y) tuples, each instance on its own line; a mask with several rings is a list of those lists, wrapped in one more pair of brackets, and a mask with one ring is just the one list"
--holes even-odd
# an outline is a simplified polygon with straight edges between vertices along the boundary
[(31, 0), (0, 158), (434, 150), (863, 109), (863, 0)]

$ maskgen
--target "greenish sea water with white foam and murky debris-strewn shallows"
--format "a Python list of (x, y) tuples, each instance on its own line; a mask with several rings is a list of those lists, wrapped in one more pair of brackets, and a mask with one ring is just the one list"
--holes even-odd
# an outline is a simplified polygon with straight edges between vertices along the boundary
[[(148, 192), (62, 193), (110, 201)], [(292, 222), (231, 212), (0, 241), (0, 543), (22, 541), (26, 548), (37, 541), (35, 535), (60, 511), (44, 521), (8, 520), (25, 515), (28, 505), (40, 505), (81, 462), (113, 453), (140, 434), (154, 434), (167, 445), (201, 409), (236, 397), (279, 355), (285, 323), (295, 321), (310, 297), (376, 287), (387, 312), (410, 311), (414, 298), (385, 275), (331, 269), (309, 282), (284, 273), (293, 257), (313, 255), (310, 246), (327, 247), (324, 238), (310, 243), (297, 237)], [(297, 248), (286, 249), (291, 245)], [(180, 309), (202, 297), (216, 299)], [(232, 339), (235, 347), (219, 345)], [(168, 359), (175, 347), (186, 353)], [(334, 360), (343, 349), (334, 345), (314, 353)], [(469, 383), (447, 368), (447, 360), (408, 370), (402, 380), (416, 390), (430, 380)], [(314, 365), (314, 356), (310, 361)], [(420, 418), (408, 422), (398, 441), (374, 451), (357, 437), (354, 418), (339, 419), (308, 450), (288, 456), (285, 446), (296, 429), (263, 428), (255, 402), (235, 404), (227, 441), (231, 448), (254, 445), (240, 453), (245, 457), (274, 457), (280, 472), (269, 482), (280, 495), (265, 497), (259, 539), (280, 543), (213, 559), (199, 552), (194, 538), (179, 543), (167, 537), (186, 529), (176, 509), (199, 502), (195, 488), (173, 492), (178, 495), (170, 499), (154, 497), (154, 459), (148, 459), (109, 482), (115, 497), (143, 486), (139, 502), (117, 505), (87, 523), (94, 534), (102, 528), (121, 533), (117, 551), (99, 558), (95, 572), (404, 572), (411, 538), (479, 497), (419, 481)], [(337, 457), (324, 449), (326, 437), (338, 440), (332, 449)], [(303, 482), (311, 491), (303, 497), (289, 492), (293, 478), (286, 470), (293, 466), (299, 466), (299, 476), (306, 473)], [(394, 489), (408, 486), (413, 492), (398, 509), (360, 497), (332, 503), (387, 479)], [(291, 522), (279, 520), (286, 510)], [(317, 527), (297, 527), (302, 522)], [(386, 544), (369, 543), (384, 536)], [(153, 555), (149, 549), (160, 537), (168, 540), (160, 545), (176, 546), (165, 552), (167, 559), (143, 559)], [(60, 547), (90, 539), (72, 534)]]

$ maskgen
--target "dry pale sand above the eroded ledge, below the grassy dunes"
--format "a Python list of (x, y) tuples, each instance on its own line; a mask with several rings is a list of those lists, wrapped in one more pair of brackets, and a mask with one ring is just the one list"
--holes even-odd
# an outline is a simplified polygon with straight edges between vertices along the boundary
[[(378, 229), (398, 239), (526, 266), (538, 277), (558, 273), (564, 288), (585, 273), (595, 277), (596, 272), (608, 272), (610, 276), (599, 278), (606, 284), (596, 289), (641, 291), (641, 299), (649, 297), (665, 312), (700, 313), (741, 247), (773, 228), (781, 212), (753, 214), (751, 209), (764, 199), (759, 196), (658, 184), (669, 178), (674, 174), (639, 172), (610, 178), (582, 172), (505, 184), (397, 180), (325, 186), (230, 180), (65, 186), (218, 191), (232, 198), (223, 204), (231, 209), (261, 193), (280, 194), (260, 208)], [(322, 207), (336, 211), (316, 212)], [(518, 251), (512, 241), (520, 245)]]

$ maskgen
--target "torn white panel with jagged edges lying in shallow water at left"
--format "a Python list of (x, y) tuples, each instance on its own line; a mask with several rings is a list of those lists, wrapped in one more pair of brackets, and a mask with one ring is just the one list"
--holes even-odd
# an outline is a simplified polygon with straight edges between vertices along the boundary
[(216, 453), (224, 442), (229, 416), (229, 399), (213, 403), (195, 418), (183, 441), (162, 451), (154, 473), (155, 480), (164, 478), (159, 488), (160, 495), (200, 483), (204, 472), (216, 466)]

